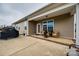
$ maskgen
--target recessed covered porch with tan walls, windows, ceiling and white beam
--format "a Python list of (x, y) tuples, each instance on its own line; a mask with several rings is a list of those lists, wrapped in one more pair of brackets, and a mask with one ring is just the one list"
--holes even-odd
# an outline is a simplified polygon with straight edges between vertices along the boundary
[[(54, 9), (52, 8), (48, 12), (32, 17), (28, 20), (29, 35), (42, 38), (42, 36), (40, 35), (43, 34), (44, 30), (46, 30), (47, 32), (50, 30), (52, 31), (55, 30), (60, 33), (60, 37), (59, 38), (49, 37), (48, 40), (52, 41), (53, 38), (53, 41), (58, 42), (60, 44), (62, 43), (65, 45), (73, 44), (72, 39), (75, 39), (74, 13), (75, 13), (74, 4), (64, 4), (60, 5), (58, 8)], [(67, 41), (65, 42), (65, 40)]]

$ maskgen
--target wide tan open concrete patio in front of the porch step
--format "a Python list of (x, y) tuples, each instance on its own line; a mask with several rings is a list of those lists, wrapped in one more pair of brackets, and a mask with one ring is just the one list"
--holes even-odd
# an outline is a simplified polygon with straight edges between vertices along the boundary
[(69, 47), (30, 36), (0, 40), (0, 56), (66, 56)]

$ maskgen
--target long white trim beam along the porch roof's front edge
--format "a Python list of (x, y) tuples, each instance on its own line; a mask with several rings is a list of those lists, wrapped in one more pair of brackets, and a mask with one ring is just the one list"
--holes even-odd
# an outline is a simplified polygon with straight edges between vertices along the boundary
[(45, 15), (48, 15), (48, 14), (51, 14), (51, 13), (60, 11), (60, 10), (62, 10), (62, 9), (71, 7), (71, 6), (73, 6), (73, 5), (75, 5), (75, 3), (72, 3), (72, 4), (70, 3), (70, 4), (62, 5), (62, 6), (58, 7), (58, 8), (52, 9), (52, 10), (46, 12), (46, 13), (40, 14), (40, 15), (35, 16), (35, 17), (33, 17), (33, 18), (30, 18), (30, 19), (28, 19), (28, 20), (30, 21), (30, 20), (36, 19), (36, 18), (38, 18), (38, 17), (42, 17), (42, 16), (45, 16)]

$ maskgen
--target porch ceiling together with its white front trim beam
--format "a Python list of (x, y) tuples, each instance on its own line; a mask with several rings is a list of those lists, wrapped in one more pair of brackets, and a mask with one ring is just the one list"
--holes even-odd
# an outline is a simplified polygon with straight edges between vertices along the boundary
[(31, 21), (31, 20), (38, 21), (38, 20), (43, 20), (43, 19), (46, 19), (46, 18), (62, 15), (62, 14), (65, 14), (65, 13), (69, 13), (69, 12), (71, 12), (73, 10), (74, 5), (75, 4), (63, 5), (61, 7), (52, 9), (52, 10), (46, 12), (46, 13), (37, 15), (36, 17), (30, 18), (29, 21)]

